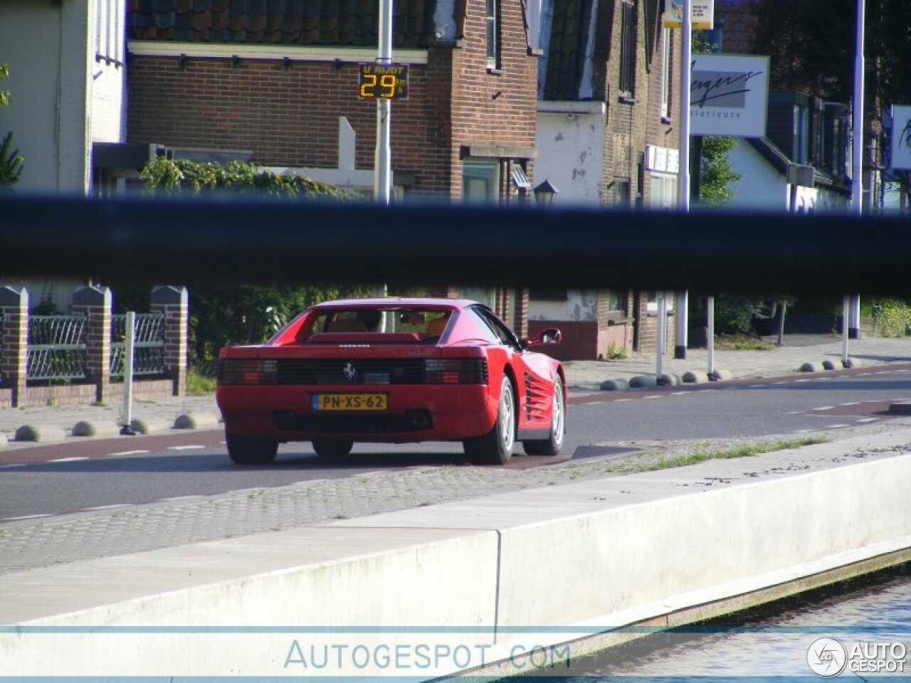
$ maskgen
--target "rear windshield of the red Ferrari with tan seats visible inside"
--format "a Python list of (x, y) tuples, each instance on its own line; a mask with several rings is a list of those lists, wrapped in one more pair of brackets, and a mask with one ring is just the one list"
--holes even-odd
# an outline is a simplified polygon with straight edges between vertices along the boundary
[(304, 338), (312, 343), (434, 343), (449, 316), (450, 311), (426, 309), (329, 309), (317, 312)]

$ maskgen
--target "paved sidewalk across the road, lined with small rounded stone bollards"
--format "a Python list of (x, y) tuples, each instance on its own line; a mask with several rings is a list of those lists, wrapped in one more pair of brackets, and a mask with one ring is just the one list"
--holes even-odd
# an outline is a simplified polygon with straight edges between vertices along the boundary
[[(715, 368), (732, 379), (773, 377), (799, 372), (804, 363), (838, 362), (842, 340), (832, 335), (792, 335), (771, 351), (715, 352)], [(911, 362), (911, 340), (872, 337), (850, 342), (851, 358), (864, 366)], [(600, 392), (609, 380), (654, 377), (654, 355), (632, 356), (622, 361), (569, 361), (565, 364), (570, 392)], [(686, 372), (705, 373), (708, 354), (691, 349), (685, 360), (665, 356), (662, 373), (681, 378)], [(86, 436), (116, 436), (122, 424), (120, 405), (46, 406), (0, 410), (0, 448), (30, 442), (54, 442)], [(179, 425), (184, 429), (218, 428), (220, 413), (215, 397), (184, 396), (134, 403), (134, 425), (138, 432), (167, 432)], [(77, 428), (78, 425), (78, 428)], [(81, 435), (74, 435), (74, 431)], [(16, 440), (19, 433), (19, 440)], [(126, 437), (125, 437), (126, 438)]]

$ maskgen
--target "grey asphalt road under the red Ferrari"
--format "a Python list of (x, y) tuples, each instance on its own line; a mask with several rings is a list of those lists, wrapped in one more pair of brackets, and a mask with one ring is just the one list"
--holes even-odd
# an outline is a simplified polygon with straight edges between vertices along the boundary
[[(574, 396), (566, 450), (577, 458), (599, 458), (643, 440), (832, 431), (889, 419), (889, 403), (900, 400), (911, 400), (907, 370)], [(357, 445), (342, 463), (316, 458), (309, 443), (292, 443), (281, 446), (269, 467), (230, 464), (219, 432), (138, 437), (129, 444), (129, 451), (123, 440), (23, 449), (21, 463), (0, 468), (0, 524), (30, 515), (465, 464), (455, 443)], [(555, 459), (515, 457), (507, 467), (555, 464)]]

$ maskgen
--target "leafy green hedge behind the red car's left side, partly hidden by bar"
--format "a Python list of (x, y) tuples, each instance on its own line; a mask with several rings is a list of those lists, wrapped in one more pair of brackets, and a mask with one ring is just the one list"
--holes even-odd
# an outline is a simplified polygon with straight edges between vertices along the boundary
[[(343, 190), (310, 178), (278, 176), (240, 162), (223, 166), (157, 158), (142, 170), (141, 178), (152, 194), (230, 192), (293, 201), (348, 197)], [(251, 239), (255, 239), (254, 230), (251, 226)], [(148, 306), (152, 285), (160, 283), (131, 280), (108, 284), (115, 291), (118, 311), (142, 311)], [(307, 306), (366, 293), (359, 286), (243, 280), (226, 284), (197, 281), (191, 276), (182, 284), (189, 288), (191, 362), (200, 369), (214, 361), (223, 346), (263, 342)]]

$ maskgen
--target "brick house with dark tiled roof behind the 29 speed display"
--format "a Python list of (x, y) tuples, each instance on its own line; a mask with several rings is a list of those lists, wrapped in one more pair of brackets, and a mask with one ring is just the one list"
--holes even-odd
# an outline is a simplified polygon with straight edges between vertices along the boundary
[[(369, 191), (376, 107), (357, 85), (377, 30), (377, 0), (128, 0), (129, 142)], [(410, 72), (394, 197), (529, 199), (537, 56), (521, 0), (396, 0), (393, 36)], [(520, 293), (467, 293), (527, 326)]]

